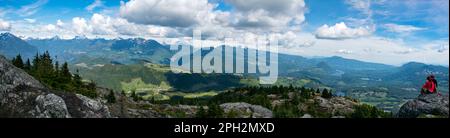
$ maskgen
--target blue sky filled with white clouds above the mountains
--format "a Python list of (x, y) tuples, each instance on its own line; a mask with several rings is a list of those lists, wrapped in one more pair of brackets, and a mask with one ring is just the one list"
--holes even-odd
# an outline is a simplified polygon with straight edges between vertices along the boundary
[(274, 36), (280, 52), (449, 65), (448, 0), (0, 0), (23, 38)]

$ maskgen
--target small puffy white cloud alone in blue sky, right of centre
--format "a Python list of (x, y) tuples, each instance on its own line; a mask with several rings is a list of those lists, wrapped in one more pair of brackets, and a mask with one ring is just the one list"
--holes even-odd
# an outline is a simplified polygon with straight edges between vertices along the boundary
[(323, 25), (316, 30), (316, 38), (319, 39), (350, 39), (368, 36), (373, 31), (368, 27), (350, 28), (344, 22), (334, 26)]

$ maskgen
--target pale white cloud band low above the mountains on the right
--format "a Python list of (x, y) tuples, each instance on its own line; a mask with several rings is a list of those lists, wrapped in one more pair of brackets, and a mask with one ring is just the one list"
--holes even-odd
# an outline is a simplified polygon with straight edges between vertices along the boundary
[[(402, 41), (377, 36), (355, 39), (317, 39), (313, 34), (300, 33), (302, 41), (313, 41), (309, 47), (281, 47), (280, 52), (304, 57), (341, 56), (360, 61), (400, 66), (415, 61), (427, 64), (449, 65), (448, 40), (407, 45)], [(309, 36), (308, 36), (309, 35)], [(437, 58), (438, 57), (438, 58)]]

